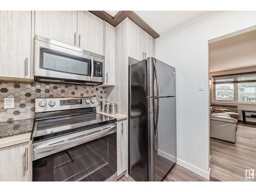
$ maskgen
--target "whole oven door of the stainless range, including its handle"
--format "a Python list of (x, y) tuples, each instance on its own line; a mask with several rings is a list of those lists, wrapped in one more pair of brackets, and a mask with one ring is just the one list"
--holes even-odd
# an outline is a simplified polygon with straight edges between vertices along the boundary
[(34, 143), (33, 181), (116, 180), (116, 148), (116, 123)]

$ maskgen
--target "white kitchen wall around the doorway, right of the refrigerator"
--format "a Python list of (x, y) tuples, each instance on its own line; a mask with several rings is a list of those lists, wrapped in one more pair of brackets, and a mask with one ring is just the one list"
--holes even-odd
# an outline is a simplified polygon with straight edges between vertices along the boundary
[[(177, 163), (209, 177), (208, 40), (256, 25), (256, 11), (205, 13), (156, 39), (156, 58), (176, 67)], [(198, 83), (205, 91), (198, 91)]]

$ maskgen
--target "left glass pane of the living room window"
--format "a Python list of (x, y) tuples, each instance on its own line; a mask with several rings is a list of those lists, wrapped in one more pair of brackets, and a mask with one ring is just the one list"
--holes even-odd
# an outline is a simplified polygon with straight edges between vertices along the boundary
[(216, 84), (215, 86), (216, 100), (234, 100), (234, 84)]

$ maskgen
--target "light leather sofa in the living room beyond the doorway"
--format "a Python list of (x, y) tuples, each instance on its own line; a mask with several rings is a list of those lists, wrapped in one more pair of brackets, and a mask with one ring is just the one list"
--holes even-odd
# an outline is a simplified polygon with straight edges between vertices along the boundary
[[(227, 109), (227, 107), (225, 106), (223, 106), (223, 108)], [(234, 107), (232, 106), (231, 108), (234, 108)], [(234, 109), (233, 113), (236, 113), (234, 112), (236, 110)], [(233, 113), (231, 113), (231, 115), (234, 115)], [(236, 116), (233, 116), (233, 117), (237, 117), (237, 119), (232, 118), (231, 115), (226, 112), (214, 113), (213, 106), (210, 106), (210, 137), (211, 138), (216, 138), (216, 139), (221, 139), (224, 141), (236, 143), (238, 115), (235, 114)]]

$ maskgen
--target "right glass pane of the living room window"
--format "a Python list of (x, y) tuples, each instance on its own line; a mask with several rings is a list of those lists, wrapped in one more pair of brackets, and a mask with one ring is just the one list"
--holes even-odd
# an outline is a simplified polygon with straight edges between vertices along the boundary
[(238, 83), (238, 101), (256, 102), (256, 82)]

